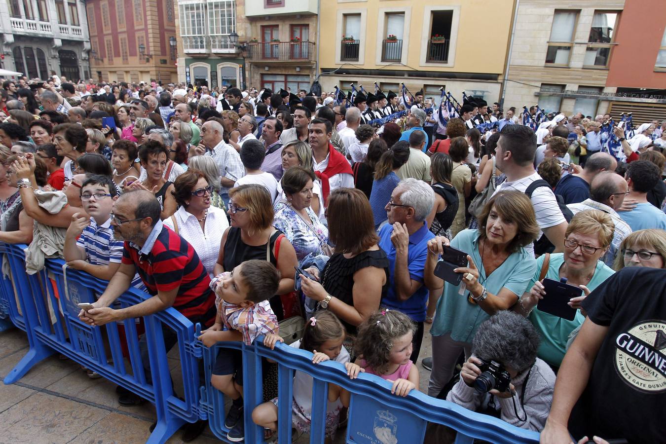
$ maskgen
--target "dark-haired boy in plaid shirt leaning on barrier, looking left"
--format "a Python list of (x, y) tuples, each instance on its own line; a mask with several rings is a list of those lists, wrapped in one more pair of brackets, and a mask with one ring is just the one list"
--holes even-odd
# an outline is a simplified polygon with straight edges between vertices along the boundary
[[(278, 320), (268, 299), (278, 291), (280, 272), (266, 260), (246, 260), (231, 272), (220, 273), (210, 282), (215, 292), (215, 324), (199, 340), (210, 347), (218, 341), (243, 341), (251, 345), (259, 335), (278, 333)], [(225, 327), (226, 330), (222, 331)], [(213, 387), (232, 399), (224, 419), (227, 439), (244, 439), (242, 354), (238, 349), (220, 348), (212, 369)]]

